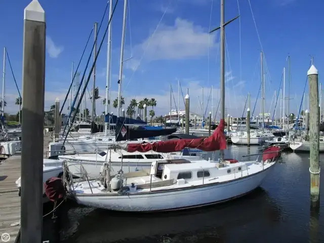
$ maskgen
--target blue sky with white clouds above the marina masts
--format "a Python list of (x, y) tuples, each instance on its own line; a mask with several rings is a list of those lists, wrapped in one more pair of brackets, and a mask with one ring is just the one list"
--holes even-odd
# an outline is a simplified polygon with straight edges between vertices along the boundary
[[(311, 2), (310, 5), (307, 2)], [(17, 85), (22, 93), (23, 13), (30, 0), (0, 1), (0, 47), (6, 47)], [(80, 60), (94, 22), (100, 24), (107, 5), (96, 1), (39, 0), (46, 13), (46, 80), (45, 110), (55, 99), (64, 101), (71, 82), (71, 67)], [(114, 5), (116, 0), (112, 1)], [(231, 116), (241, 116), (250, 92), (250, 107), (260, 113), (261, 84), (260, 51), (264, 52), (265, 112), (274, 113), (274, 92), (278, 94), (282, 70), (286, 67), (286, 97), (289, 87), (290, 56), (290, 112), (298, 113), (311, 56), (319, 70), (324, 69), (321, 44), (323, 30), (317, 23), (324, 21), (321, 0), (225, 0), (225, 21), (238, 19), (225, 28), (225, 108)], [(117, 97), (121, 32), (124, 1), (119, 0), (112, 18), (112, 54), (110, 99)], [(98, 35), (98, 48), (108, 23), (105, 14)], [(220, 23), (220, 0), (130, 0), (128, 5), (126, 40), (121, 92), (131, 99), (155, 98), (156, 115), (165, 115), (178, 107), (178, 81), (183, 95), (190, 96), (190, 111), (201, 114), (210, 111), (215, 116), (220, 93), (219, 31), (209, 34)], [(98, 25), (99, 25), (98, 24)], [(93, 36), (81, 61), (81, 76), (93, 45)], [(2, 56), (2, 55), (1, 55)], [(90, 64), (93, 63), (93, 57)], [(96, 64), (96, 86), (102, 97), (96, 102), (96, 113), (104, 111), (107, 66), (107, 35)], [(91, 65), (86, 71), (89, 75)], [(74, 69), (75, 70), (75, 69)], [(320, 82), (319, 78), (319, 82)], [(88, 85), (91, 92), (93, 78)], [(282, 83), (282, 82), (281, 82)], [(170, 86), (173, 95), (170, 105)], [(213, 87), (213, 90), (212, 90)], [(202, 89), (204, 88), (204, 97)], [(283, 85), (281, 84), (281, 89)], [(212, 91), (212, 92), (211, 92)], [(306, 85), (308, 93), (308, 84)], [(208, 96), (213, 94), (213, 99)], [(16, 113), (18, 91), (7, 61), (5, 112)], [(86, 93), (87, 107), (91, 106)], [(286, 100), (286, 113), (287, 113)], [(67, 105), (63, 112), (67, 112)], [(279, 100), (277, 115), (279, 115)], [(283, 105), (282, 105), (283, 106)], [(305, 106), (307, 108), (307, 96)], [(184, 101), (180, 92), (180, 109)], [(303, 109), (303, 106), (302, 106)], [(116, 112), (111, 107), (112, 112)], [(219, 109), (218, 109), (219, 117)], [(245, 116), (245, 115), (244, 115)]]

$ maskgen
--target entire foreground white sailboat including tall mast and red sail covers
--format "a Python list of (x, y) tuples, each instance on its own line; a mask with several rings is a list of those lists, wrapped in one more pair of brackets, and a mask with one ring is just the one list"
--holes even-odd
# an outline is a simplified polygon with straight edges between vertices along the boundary
[[(124, 6), (124, 18), (127, 0)], [(125, 23), (124, 23), (125, 25)], [(224, 0), (221, 0), (221, 121), (209, 138), (183, 139), (153, 144), (129, 144), (128, 152), (174, 152), (184, 147), (204, 151), (226, 149), (224, 136), (225, 75), (224, 75)], [(127, 212), (152, 212), (202, 207), (245, 195), (264, 180), (276, 164), (279, 148), (270, 147), (261, 161), (238, 162), (198, 159), (165, 159), (154, 161), (150, 170), (118, 174), (110, 178), (111, 161), (104, 164), (102, 180), (70, 181), (69, 194), (79, 204)], [(222, 151), (223, 152), (223, 151)], [(127, 167), (127, 166), (126, 166)]]

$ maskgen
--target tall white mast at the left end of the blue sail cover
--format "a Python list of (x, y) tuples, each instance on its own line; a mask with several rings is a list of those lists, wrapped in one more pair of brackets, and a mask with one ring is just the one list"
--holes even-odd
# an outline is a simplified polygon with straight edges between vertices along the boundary
[[(109, 1), (109, 18), (108, 18), (108, 45), (107, 45), (107, 73), (106, 73), (106, 103), (105, 103), (105, 116), (109, 114), (109, 86), (110, 86), (110, 66), (111, 66), (111, 24), (112, 20), (112, 0)], [(110, 21), (110, 23), (109, 23)], [(105, 136), (108, 135), (108, 120), (105, 117)]]

